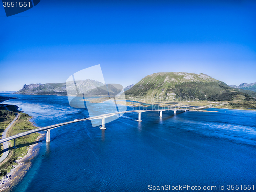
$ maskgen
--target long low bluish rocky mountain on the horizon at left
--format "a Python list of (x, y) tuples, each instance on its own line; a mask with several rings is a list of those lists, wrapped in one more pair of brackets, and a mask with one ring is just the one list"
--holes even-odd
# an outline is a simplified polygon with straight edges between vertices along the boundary
[(95, 80), (73, 81), (66, 83), (46, 83), (46, 84), (30, 84), (24, 85), (22, 89), (14, 94), (30, 94), (30, 95), (72, 95), (76, 96), (108, 96), (120, 93), (120, 85), (105, 84)]

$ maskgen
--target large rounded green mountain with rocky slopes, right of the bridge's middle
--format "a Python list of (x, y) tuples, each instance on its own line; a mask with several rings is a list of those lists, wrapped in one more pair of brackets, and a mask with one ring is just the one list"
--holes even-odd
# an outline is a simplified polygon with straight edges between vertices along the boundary
[(125, 91), (126, 95), (160, 96), (164, 99), (193, 97), (197, 100), (231, 101), (237, 98), (255, 100), (253, 91), (231, 88), (206, 74), (184, 72), (154, 73)]

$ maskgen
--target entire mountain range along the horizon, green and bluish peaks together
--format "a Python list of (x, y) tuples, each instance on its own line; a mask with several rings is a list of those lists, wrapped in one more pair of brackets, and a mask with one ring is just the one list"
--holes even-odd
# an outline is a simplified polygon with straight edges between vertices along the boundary
[[(67, 86), (67, 87), (66, 87)], [(134, 96), (160, 96), (163, 99), (193, 97), (195, 100), (208, 101), (239, 101), (245, 108), (256, 108), (256, 92), (248, 90), (254, 84), (241, 84), (230, 87), (222, 81), (200, 73), (154, 73), (146, 76), (135, 85), (124, 88), (126, 95)], [(249, 88), (248, 88), (249, 87)], [(242, 89), (243, 88), (243, 89)], [(106, 96), (120, 93), (122, 87), (118, 84), (105, 84), (95, 80), (73, 81), (68, 83), (46, 83), (24, 85), (14, 94), (33, 95), (76, 95), (80, 96)], [(256, 104), (256, 103), (255, 103)]]

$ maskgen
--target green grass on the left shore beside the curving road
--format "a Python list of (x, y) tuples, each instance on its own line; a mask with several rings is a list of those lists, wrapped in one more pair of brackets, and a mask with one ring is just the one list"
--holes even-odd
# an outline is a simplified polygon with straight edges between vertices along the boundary
[[(28, 114), (20, 113), (18, 120), (16, 121), (15, 125), (11, 128), (11, 130), (8, 131), (7, 136), (9, 137), (9, 136), (16, 135), (18, 133), (36, 129), (37, 127), (33, 126), (32, 123), (29, 122), (30, 118), (31, 117)], [(5, 122), (7, 123), (7, 121), (8, 120), (6, 120)], [(0, 165), (0, 177), (10, 172), (11, 169), (13, 168), (13, 165), (17, 165), (16, 160), (18, 160), (20, 157), (24, 157), (27, 154), (29, 145), (35, 144), (38, 136), (39, 136), (39, 133), (33, 133), (31, 135), (17, 138), (16, 139), (17, 149), (12, 148), (13, 140), (10, 141), (11, 144), (10, 144), (9, 150), (11, 150), (11, 156), (10, 157), (8, 156), (9, 159)], [(3, 153), (3, 149), (0, 151), (0, 153), (1, 154)]]

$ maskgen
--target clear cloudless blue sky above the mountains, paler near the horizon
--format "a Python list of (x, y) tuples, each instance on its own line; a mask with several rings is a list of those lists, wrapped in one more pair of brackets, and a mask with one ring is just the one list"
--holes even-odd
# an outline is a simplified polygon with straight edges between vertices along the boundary
[(256, 1), (46, 1), (0, 8), (0, 91), (65, 82), (101, 65), (106, 83), (156, 72), (256, 82)]

